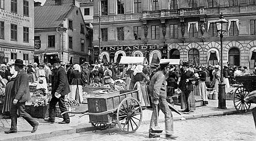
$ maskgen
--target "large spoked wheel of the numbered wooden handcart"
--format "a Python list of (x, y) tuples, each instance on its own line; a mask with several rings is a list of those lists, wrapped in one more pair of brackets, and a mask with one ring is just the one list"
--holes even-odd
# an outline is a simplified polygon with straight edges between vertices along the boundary
[(117, 109), (117, 124), (125, 133), (134, 133), (142, 122), (142, 107), (137, 99), (127, 97)]

